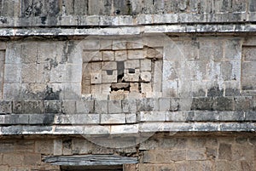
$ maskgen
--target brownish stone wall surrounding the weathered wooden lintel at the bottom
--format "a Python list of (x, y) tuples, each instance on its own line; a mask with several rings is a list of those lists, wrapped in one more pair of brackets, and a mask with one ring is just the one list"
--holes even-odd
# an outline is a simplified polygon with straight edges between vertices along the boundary
[(3, 171), (58, 171), (60, 166), (42, 162), (58, 155), (118, 154), (138, 157), (125, 166), (135, 170), (255, 170), (256, 141), (253, 134), (154, 134), (143, 143), (125, 148), (108, 148), (81, 137), (6, 139), (0, 145)]

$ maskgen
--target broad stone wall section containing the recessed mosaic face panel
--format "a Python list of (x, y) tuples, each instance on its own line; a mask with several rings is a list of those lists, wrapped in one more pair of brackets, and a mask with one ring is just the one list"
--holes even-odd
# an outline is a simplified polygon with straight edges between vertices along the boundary
[(159, 37), (2, 43), (6, 48), (0, 97), (125, 100), (254, 95), (253, 37)]

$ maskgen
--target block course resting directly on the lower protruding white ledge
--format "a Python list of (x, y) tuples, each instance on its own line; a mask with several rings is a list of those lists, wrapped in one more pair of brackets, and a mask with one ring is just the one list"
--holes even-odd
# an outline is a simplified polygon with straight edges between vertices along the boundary
[(141, 111), (118, 114), (7, 114), (0, 125), (115, 125), (131, 123), (247, 123), (256, 122), (256, 111)]

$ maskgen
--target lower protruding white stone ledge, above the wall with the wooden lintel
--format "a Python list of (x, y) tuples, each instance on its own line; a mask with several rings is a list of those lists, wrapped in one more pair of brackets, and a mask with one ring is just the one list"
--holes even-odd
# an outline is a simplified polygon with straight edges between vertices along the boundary
[(154, 132), (254, 132), (256, 123), (139, 123), (133, 125), (31, 126), (1, 127), (0, 135), (129, 135)]

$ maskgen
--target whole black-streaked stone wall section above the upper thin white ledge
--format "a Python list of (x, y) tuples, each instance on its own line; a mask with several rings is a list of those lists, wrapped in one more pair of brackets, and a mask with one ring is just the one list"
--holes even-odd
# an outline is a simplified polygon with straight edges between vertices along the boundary
[(250, 23), (256, 20), (253, 0), (3, 0), (0, 8), (1, 27)]

